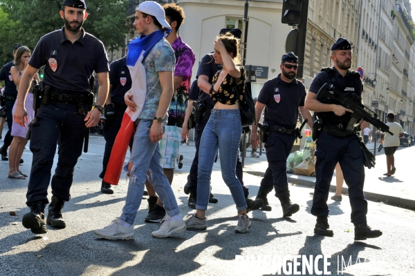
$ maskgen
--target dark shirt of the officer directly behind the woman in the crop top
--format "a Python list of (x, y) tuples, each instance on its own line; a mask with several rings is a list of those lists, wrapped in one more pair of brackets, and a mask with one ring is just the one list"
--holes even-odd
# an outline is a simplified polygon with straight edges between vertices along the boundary
[[(199, 63), (199, 69), (197, 70), (196, 79), (200, 75), (208, 76), (209, 83), (212, 83), (213, 76), (222, 69), (220, 64), (214, 63), (214, 58), (212, 54), (207, 54), (202, 57), (201, 63)], [(212, 98), (208, 93), (200, 90), (198, 102), (203, 104), (207, 108), (213, 108), (214, 104)]]

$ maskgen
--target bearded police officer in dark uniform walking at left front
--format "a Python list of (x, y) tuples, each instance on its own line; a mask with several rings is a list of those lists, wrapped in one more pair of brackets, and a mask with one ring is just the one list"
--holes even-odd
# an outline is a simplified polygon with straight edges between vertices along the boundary
[[(71, 199), (69, 190), (75, 164), (82, 153), (85, 130), (100, 121), (109, 89), (109, 66), (104, 45), (82, 28), (88, 16), (85, 2), (64, 0), (59, 13), (64, 19), (64, 28), (46, 34), (37, 43), (21, 77), (14, 115), (15, 122), (24, 126), (27, 116), (24, 99), (30, 80), (39, 68), (46, 65), (44, 97), (30, 136), (33, 163), (26, 194), (30, 212), (23, 216), (24, 227), (36, 234), (46, 233), (44, 208), (48, 204), (50, 170), (58, 140), (57, 168), (52, 177), (53, 196), (46, 223), (55, 228), (66, 226), (62, 208), (64, 202)], [(90, 79), (94, 71), (100, 88), (95, 108), (89, 111), (92, 104)]]

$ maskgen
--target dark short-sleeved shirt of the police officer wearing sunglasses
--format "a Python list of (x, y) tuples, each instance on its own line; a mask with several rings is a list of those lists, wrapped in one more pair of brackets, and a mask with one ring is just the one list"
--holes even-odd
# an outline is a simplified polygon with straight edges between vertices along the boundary
[(304, 106), (306, 88), (301, 81), (282, 81), (281, 74), (264, 83), (257, 101), (266, 105), (264, 121), (271, 126), (295, 128), (298, 120), (298, 107)]

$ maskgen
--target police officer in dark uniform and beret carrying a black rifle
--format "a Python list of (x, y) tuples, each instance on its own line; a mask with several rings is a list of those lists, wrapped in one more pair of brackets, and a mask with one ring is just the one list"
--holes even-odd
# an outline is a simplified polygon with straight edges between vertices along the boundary
[[(333, 171), (339, 162), (344, 180), (349, 187), (351, 222), (355, 226), (355, 239), (379, 237), (382, 235), (380, 230), (371, 230), (367, 226), (367, 200), (363, 193), (365, 168), (359, 140), (356, 135), (346, 130), (352, 110), (344, 108), (337, 102), (317, 100), (317, 92), (324, 83), (333, 84), (338, 92), (356, 93), (358, 97), (362, 95), (363, 86), (359, 73), (349, 70), (352, 53), (351, 44), (347, 39), (340, 38), (331, 46), (331, 60), (334, 66), (323, 68), (322, 72), (315, 75), (306, 97), (306, 108), (314, 111), (322, 124), (315, 151), (316, 181), (311, 208), (311, 214), (317, 216), (314, 232), (333, 236), (327, 221), (329, 215), (327, 199)], [(367, 121), (360, 120), (359, 124), (361, 129), (369, 126)]]

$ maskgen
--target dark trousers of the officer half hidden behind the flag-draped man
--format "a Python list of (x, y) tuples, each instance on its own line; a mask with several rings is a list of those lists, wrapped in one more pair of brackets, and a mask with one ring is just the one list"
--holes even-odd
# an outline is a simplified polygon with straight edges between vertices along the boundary
[[(127, 108), (126, 108), (127, 109)], [(105, 150), (104, 150), (104, 158), (102, 159), (102, 178), (107, 171), (107, 165), (109, 161), (109, 157), (111, 156), (111, 150), (114, 146), (114, 141), (116, 141), (116, 137), (118, 131), (120, 131), (122, 117), (124, 116), (125, 109), (116, 109), (116, 114), (114, 115), (116, 119), (112, 122), (112, 124), (105, 124), (104, 126), (104, 139), (105, 139)], [(130, 148), (133, 144), (133, 137), (131, 137), (130, 141)]]

